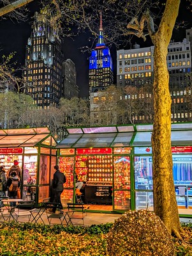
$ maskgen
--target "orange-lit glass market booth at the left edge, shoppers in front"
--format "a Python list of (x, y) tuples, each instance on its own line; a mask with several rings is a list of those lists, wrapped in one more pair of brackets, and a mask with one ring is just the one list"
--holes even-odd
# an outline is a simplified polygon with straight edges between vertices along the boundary
[(50, 194), (50, 179), (57, 161), (57, 145), (47, 127), (0, 130), (0, 166), (6, 172), (18, 161), (21, 198), (36, 205)]

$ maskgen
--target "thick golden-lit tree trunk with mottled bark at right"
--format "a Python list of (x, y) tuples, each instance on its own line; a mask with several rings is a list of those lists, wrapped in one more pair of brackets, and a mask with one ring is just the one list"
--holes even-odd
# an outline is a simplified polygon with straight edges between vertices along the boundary
[(154, 35), (154, 125), (152, 132), (154, 212), (170, 234), (180, 237), (181, 224), (175, 196), (171, 151), (171, 97), (166, 65), (167, 48), (179, 12), (179, 0), (166, 1)]

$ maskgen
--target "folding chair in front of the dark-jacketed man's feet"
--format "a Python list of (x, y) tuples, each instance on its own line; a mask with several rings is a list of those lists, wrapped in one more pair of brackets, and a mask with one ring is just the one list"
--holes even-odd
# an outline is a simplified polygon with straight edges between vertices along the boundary
[[(65, 215), (61, 210), (61, 205), (59, 203), (46, 202), (44, 203), (44, 206), (45, 206), (45, 211), (47, 213), (47, 220), (49, 225), (52, 225), (52, 220), (56, 220), (56, 219), (59, 219), (61, 221), (61, 225), (63, 225), (63, 221), (65, 220)], [(56, 209), (55, 213), (50, 212), (55, 209)]]

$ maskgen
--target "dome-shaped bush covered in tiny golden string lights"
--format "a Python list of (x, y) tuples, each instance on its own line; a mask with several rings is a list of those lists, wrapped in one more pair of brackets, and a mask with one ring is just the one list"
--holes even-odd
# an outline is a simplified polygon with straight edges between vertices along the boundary
[(107, 236), (110, 256), (174, 256), (174, 243), (163, 221), (147, 210), (128, 211)]

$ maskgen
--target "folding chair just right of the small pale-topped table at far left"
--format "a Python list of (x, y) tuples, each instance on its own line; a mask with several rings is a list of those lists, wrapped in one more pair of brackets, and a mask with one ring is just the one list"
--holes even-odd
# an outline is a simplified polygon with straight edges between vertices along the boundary
[[(31, 213), (31, 210), (33, 209), (33, 206), (34, 206), (34, 201), (31, 200), (31, 201), (22, 201), (22, 202), (19, 202), (19, 204), (17, 205), (17, 207), (15, 207), (15, 211), (14, 211), (14, 214), (15, 214), (15, 220), (18, 222), (18, 218), (20, 217), (28, 217), (28, 222), (31, 220), (31, 216), (32, 213)], [(20, 221), (20, 222), (25, 222), (25, 221)]]

